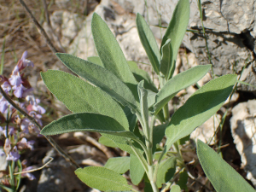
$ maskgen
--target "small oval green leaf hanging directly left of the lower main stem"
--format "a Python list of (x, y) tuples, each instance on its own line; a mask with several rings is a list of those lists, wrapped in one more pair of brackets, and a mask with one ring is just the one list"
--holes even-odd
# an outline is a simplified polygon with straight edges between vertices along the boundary
[(130, 156), (130, 177), (131, 182), (135, 185), (140, 183), (143, 180), (145, 170), (140, 160), (137, 159), (137, 156), (131, 154)]

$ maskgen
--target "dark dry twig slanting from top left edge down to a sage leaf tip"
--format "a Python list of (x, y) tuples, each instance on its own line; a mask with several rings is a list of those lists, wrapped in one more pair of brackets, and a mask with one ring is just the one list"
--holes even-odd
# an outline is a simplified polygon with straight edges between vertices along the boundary
[(46, 32), (44, 31), (44, 28), (38, 23), (38, 20), (34, 17), (34, 15), (32, 15), (32, 12), (30, 9), (28, 9), (28, 7), (26, 6), (26, 3), (23, 0), (20, 0), (20, 3), (22, 4), (22, 6), (26, 9), (26, 12), (30, 15), (30, 17), (32, 18), (32, 21), (35, 23), (35, 25), (38, 28), (38, 31), (43, 35), (46, 44), (48, 44), (49, 49), (51, 49), (52, 52), (56, 53), (58, 52), (58, 50), (55, 48), (55, 46), (51, 43), (48, 35), (46, 34)]

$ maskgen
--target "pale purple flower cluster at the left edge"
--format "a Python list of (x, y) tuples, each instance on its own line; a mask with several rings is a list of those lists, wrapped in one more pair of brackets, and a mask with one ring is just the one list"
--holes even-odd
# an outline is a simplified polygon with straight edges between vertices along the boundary
[[(32, 61), (26, 60), (26, 55), (27, 52), (25, 51), (9, 78), (0, 76), (0, 83), (15, 104), (42, 125), (41, 118), (45, 109), (38, 105), (40, 100), (33, 96), (32, 86), (22, 73), (26, 67), (34, 66)], [(16, 162), (20, 160), (20, 153), (26, 149), (33, 149), (34, 141), (26, 140), (29, 133), (39, 134), (38, 127), (33, 125), (29, 119), (26, 119), (0, 95), (0, 156), (4, 156), (6, 161)], [(26, 169), (30, 168), (26, 167)], [(32, 174), (23, 174), (23, 176), (33, 178)]]

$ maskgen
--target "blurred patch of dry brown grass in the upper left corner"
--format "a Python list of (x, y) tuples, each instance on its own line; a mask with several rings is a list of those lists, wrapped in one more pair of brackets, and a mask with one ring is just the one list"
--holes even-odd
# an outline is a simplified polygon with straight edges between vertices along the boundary
[[(57, 0), (46, 1), (47, 11), (51, 15), (56, 10), (66, 9), (73, 13), (86, 16), (95, 8), (97, 2), (91, 0), (69, 1), (69, 6), (58, 3)], [(63, 1), (62, 1), (63, 2)], [(32, 15), (42, 26), (47, 20), (43, 1), (25, 1), (31, 9)], [(58, 34), (60, 36), (61, 34)], [(32, 22), (31, 17), (26, 13), (19, 0), (0, 0), (0, 51), (4, 49), (4, 70), (3, 74), (9, 76), (16, 62), (22, 53), (28, 51), (28, 59), (33, 61), (35, 67), (29, 72), (30, 75), (38, 76), (40, 71), (45, 71), (57, 61), (54, 53), (49, 49), (38, 28)], [(58, 37), (61, 38), (61, 37)], [(58, 50), (61, 50), (57, 42), (52, 42)], [(61, 52), (61, 51), (60, 51)]]

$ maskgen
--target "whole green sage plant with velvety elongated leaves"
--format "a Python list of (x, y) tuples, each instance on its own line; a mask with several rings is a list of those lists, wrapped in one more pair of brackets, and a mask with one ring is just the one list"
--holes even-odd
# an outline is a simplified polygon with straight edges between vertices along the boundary
[[(180, 140), (221, 108), (237, 76), (227, 74), (212, 79), (195, 91), (170, 118), (167, 103), (180, 90), (203, 78), (211, 68), (211, 65), (200, 65), (173, 76), (177, 52), (189, 22), (189, 0), (178, 1), (160, 48), (142, 15), (137, 14), (136, 22), (148, 59), (159, 77), (160, 89), (135, 62), (126, 61), (107, 24), (94, 14), (91, 30), (99, 56), (85, 61), (73, 55), (56, 54), (83, 79), (56, 70), (41, 73), (48, 89), (73, 112), (46, 125), (41, 134), (99, 132), (101, 143), (130, 154), (111, 158), (104, 167), (77, 169), (75, 174), (91, 188), (137, 191), (122, 176), (129, 170), (134, 185), (144, 181), (144, 191), (181, 191), (185, 187), (173, 179), (186, 174), (184, 163), (177, 164), (181, 156)], [(156, 119), (161, 125), (155, 125)], [(158, 143), (165, 136), (166, 143), (160, 148)], [(177, 153), (170, 154), (170, 148), (176, 148)], [(254, 191), (207, 144), (197, 141), (197, 154), (216, 191)]]

